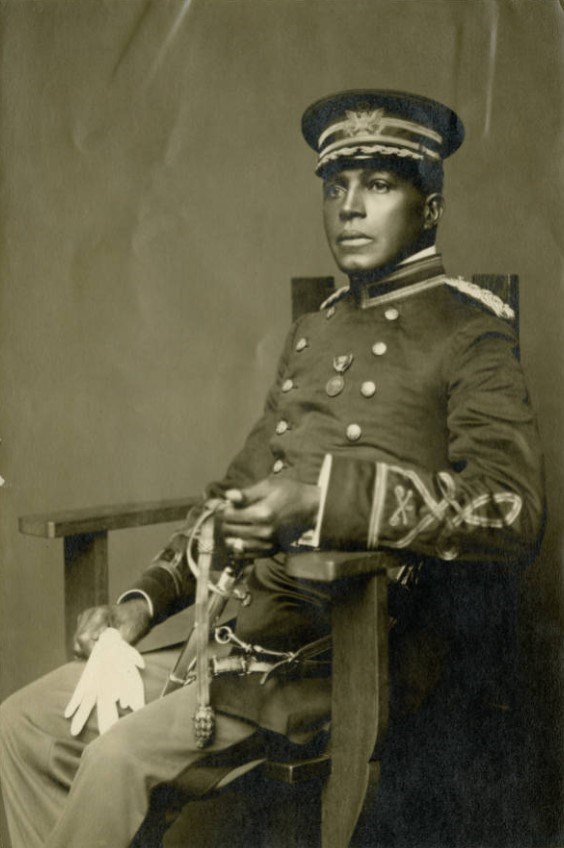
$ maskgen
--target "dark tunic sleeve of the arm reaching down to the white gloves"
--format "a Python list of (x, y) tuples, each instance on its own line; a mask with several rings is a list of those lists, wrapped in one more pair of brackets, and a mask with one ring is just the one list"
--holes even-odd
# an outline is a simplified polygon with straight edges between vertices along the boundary
[(146, 597), (152, 606), (153, 624), (164, 621), (194, 601), (196, 586), (186, 559), (186, 546), (206, 500), (222, 497), (227, 489), (248, 486), (270, 473), (272, 453), (269, 439), (276, 420), (276, 399), (298, 325), (299, 321), (294, 324), (286, 340), (276, 381), (267, 395), (263, 415), (251, 430), (243, 449), (230, 464), (224, 479), (207, 487), (201, 503), (192, 507), (185, 523), (171, 536), (135, 585), (119, 599), (122, 602), (139, 595)]

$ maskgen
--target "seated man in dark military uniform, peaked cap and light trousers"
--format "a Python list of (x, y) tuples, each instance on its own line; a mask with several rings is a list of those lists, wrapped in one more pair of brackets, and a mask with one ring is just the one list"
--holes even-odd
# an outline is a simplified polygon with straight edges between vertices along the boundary
[[(318, 156), (329, 247), (349, 286), (292, 327), (262, 418), (209, 487), (223, 502), (224, 549), (256, 558), (234, 639), (287, 652), (329, 632), (329, 598), (285, 573), (292, 545), (386, 548), (402, 552), (417, 577), (407, 624), (401, 604), (394, 613), (397, 632), (431, 634), (433, 656), (443, 658), (462, 628), (463, 650), (449, 648), (456, 664), (484, 624), (465, 605), (462, 578), (472, 584), (484, 569), (529, 562), (543, 520), (511, 309), (448, 278), (435, 247), (442, 162), (461, 144), (462, 124), (427, 98), (354, 91), (315, 103), (302, 128)], [(110, 625), (135, 643), (193, 602), (186, 538), (197, 514), (116, 605), (82, 616), (77, 654), (88, 656)], [(148, 705), (102, 736), (90, 717), (72, 738), (63, 718), (80, 662), (8, 700), (2, 767), (14, 848), (125, 848), (155, 787), (181, 782), (201, 794), (234, 765), (266, 756), (267, 738), (302, 746), (326, 726), (322, 673), (266, 682), (252, 671), (220, 675), (215, 736), (199, 749), (195, 687), (158, 698), (170, 659), (146, 658)], [(423, 681), (398, 710), (426, 694)]]

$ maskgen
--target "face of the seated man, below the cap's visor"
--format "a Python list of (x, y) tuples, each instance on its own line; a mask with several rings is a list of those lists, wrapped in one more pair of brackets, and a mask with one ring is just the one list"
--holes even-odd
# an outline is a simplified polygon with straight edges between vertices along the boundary
[(325, 233), (337, 265), (349, 275), (418, 250), (425, 209), (419, 189), (382, 168), (346, 168), (323, 182)]

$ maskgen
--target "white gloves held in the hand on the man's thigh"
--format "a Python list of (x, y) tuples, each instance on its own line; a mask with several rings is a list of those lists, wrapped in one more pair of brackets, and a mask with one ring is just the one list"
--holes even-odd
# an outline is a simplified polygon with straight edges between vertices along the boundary
[(65, 709), (65, 718), (74, 716), (71, 735), (78, 736), (94, 707), (100, 733), (119, 719), (118, 702), (122, 709), (141, 709), (145, 705), (141, 668), (145, 668), (145, 660), (139, 651), (125, 642), (118, 630), (104, 630)]

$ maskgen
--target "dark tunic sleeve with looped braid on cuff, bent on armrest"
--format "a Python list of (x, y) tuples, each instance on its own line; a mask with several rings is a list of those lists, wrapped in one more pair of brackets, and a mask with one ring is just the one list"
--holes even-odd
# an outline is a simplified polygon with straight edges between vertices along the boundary
[(542, 458), (512, 330), (478, 317), (444, 360), (448, 468), (327, 456), (322, 547), (529, 561), (543, 528)]

